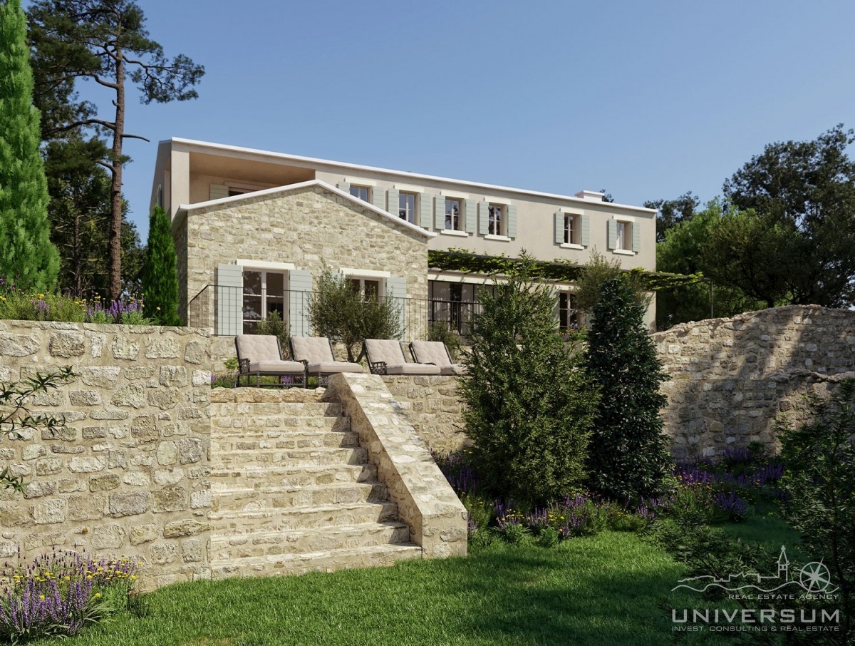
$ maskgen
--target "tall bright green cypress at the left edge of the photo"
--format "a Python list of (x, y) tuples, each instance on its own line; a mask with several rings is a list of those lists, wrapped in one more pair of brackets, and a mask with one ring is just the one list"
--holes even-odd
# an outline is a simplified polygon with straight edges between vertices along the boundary
[(0, 277), (44, 291), (56, 285), (59, 253), (50, 243), (29, 58), (21, 0), (0, 2)]

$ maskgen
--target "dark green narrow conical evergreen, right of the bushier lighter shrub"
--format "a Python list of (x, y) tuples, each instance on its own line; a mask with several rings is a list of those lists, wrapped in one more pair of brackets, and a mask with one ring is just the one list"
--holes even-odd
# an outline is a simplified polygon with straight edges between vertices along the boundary
[(644, 325), (644, 305), (621, 278), (600, 287), (586, 361), (600, 385), (588, 452), (594, 489), (619, 501), (660, 492), (670, 456), (660, 410), (665, 375)]

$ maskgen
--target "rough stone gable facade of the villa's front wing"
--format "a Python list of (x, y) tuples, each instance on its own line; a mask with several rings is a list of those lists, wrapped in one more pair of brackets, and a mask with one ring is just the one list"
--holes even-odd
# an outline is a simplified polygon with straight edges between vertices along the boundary
[[(315, 185), (247, 195), (182, 213), (173, 226), (185, 303), (218, 282), (217, 264), (234, 264), (237, 259), (246, 260), (247, 268), (252, 261), (261, 268), (292, 264), (295, 270), (310, 271), (315, 281), (324, 263), (333, 270), (387, 272), (390, 278), (405, 279), (407, 298), (428, 298), (427, 240), (432, 234), (327, 188)], [(213, 289), (207, 291), (212, 300)], [(214, 327), (213, 304), (199, 305), (208, 322), (194, 318), (193, 323)], [(186, 317), (186, 309), (181, 314)], [(427, 330), (407, 333), (424, 338)]]

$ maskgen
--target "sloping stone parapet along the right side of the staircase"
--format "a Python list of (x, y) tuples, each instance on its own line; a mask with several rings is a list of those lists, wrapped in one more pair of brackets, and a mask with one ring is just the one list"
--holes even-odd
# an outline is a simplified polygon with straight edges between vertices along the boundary
[(464, 556), (466, 508), (380, 376), (333, 375), (327, 395), (341, 402), (351, 418), (351, 429), (359, 433), (378, 479), (424, 557)]

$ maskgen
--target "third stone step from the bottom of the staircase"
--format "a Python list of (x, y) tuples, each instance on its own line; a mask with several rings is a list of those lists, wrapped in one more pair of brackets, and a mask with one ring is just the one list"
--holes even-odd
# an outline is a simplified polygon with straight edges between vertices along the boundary
[(214, 536), (218, 536), (308, 530), (331, 525), (363, 525), (397, 520), (397, 515), (398, 506), (394, 502), (378, 501), (268, 511), (212, 511), (209, 513), (209, 523)]

